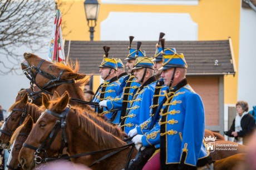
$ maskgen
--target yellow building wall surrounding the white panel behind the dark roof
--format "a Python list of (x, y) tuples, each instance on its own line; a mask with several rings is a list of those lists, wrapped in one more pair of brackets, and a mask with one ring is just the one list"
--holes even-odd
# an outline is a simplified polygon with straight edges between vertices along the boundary
[[(62, 4), (60, 9), (63, 13), (63, 25), (65, 26), (63, 28), (63, 38), (67, 40), (90, 40), (83, 7), (84, 1), (62, 0), (60, 2)], [(94, 40), (100, 40), (100, 23), (109, 16), (110, 12), (189, 13), (193, 21), (198, 24), (198, 40), (232, 38), (235, 63), (238, 68), (240, 1), (199, 0), (198, 6), (101, 4)], [(174, 23), (174, 27), (179, 27), (178, 23)], [(98, 80), (93, 81), (95, 83)], [(237, 74), (234, 77), (231, 75), (225, 76), (225, 104), (235, 104), (237, 102), (237, 86)]]

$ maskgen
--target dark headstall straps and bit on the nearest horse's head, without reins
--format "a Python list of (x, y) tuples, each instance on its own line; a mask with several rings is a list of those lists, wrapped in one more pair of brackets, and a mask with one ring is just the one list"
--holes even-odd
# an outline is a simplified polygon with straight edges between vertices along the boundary
[(66, 109), (61, 114), (57, 114), (56, 112), (46, 109), (45, 112), (47, 114), (50, 114), (50, 115), (53, 115), (53, 116), (56, 116), (59, 118), (55, 122), (55, 125), (53, 126), (53, 128), (50, 132), (50, 135), (46, 137), (45, 141), (43, 141), (42, 144), (40, 145), (40, 147), (38, 147), (38, 148), (35, 146), (32, 146), (32, 145), (28, 145), (27, 143), (23, 143), (24, 147), (27, 147), (27, 148), (30, 148), (30, 149), (36, 151), (36, 152), (34, 152), (36, 164), (40, 164), (43, 161), (43, 159), (40, 156), (38, 156), (38, 154), (40, 154), (41, 152), (44, 154), (45, 159), (48, 158), (46, 151), (51, 146), (52, 142), (55, 140), (55, 137), (57, 136), (58, 132), (61, 129), (62, 129), (62, 140), (61, 140), (61, 149), (58, 152), (58, 155), (59, 155), (58, 158), (60, 158), (62, 156), (63, 149), (65, 147), (67, 147), (66, 120), (67, 120), (67, 115), (68, 115), (69, 110), (70, 110), (70, 107), (66, 107)]

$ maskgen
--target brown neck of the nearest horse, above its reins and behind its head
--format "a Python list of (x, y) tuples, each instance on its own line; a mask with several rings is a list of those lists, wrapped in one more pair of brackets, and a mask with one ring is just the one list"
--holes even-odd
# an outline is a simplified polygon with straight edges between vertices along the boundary
[[(72, 154), (126, 145), (77, 110), (70, 112), (67, 117), (67, 133), (68, 151), (73, 152)], [(77, 151), (72, 151), (72, 148), (77, 148)]]

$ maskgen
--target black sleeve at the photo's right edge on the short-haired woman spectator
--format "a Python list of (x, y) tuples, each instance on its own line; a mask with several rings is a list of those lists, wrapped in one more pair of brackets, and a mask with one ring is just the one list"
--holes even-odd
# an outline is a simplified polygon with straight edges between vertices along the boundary
[(247, 114), (246, 117), (244, 116), (241, 120), (241, 127), (242, 131), (237, 133), (239, 137), (244, 137), (245, 135), (248, 135), (250, 132), (252, 132), (255, 128), (254, 117), (250, 114)]

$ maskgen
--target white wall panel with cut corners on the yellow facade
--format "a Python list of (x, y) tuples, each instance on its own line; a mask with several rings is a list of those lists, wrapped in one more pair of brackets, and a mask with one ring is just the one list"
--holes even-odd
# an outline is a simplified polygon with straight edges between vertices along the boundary
[(157, 41), (160, 32), (166, 40), (198, 40), (198, 24), (190, 14), (144, 12), (110, 12), (101, 22), (100, 40), (127, 41), (132, 35), (135, 41)]

